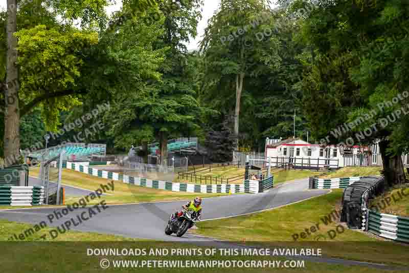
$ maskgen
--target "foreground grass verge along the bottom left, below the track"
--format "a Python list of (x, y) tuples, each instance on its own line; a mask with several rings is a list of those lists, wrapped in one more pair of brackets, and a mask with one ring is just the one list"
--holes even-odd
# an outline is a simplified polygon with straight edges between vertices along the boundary
[[(51, 228), (46, 227), (41, 229), (38, 234), (31, 237), (31, 241), (25, 242), (5, 242), (14, 233), (19, 234), (30, 228), (28, 224), (20, 224), (0, 220), (0, 241), (3, 241), (4, 249), (0, 256), (2, 264), (2, 272), (118, 272), (118, 271), (135, 271), (135, 272), (186, 272), (192, 271), (199, 273), (216, 273), (216, 272), (364, 272), (364, 273), (384, 273), (398, 272), (387, 271), (380, 269), (372, 269), (364, 266), (344, 266), (330, 263), (314, 263), (305, 261), (304, 268), (154, 268), (154, 267), (139, 267), (139, 268), (113, 268), (101, 269), (100, 261), (102, 259), (112, 260), (133, 260), (140, 262), (142, 260), (275, 260), (282, 261), (282, 257), (261, 257), (261, 256), (221, 256), (220, 253), (215, 255), (149, 255), (150, 249), (167, 249), (171, 253), (172, 249), (201, 249), (205, 253), (205, 249), (191, 244), (181, 244), (175, 242), (158, 242), (139, 239), (129, 239), (121, 236), (113, 236), (98, 233), (74, 232), (70, 230), (64, 234), (60, 234), (54, 240), (43, 241), (40, 236), (49, 233)], [(95, 256), (88, 255), (88, 249), (145, 249), (146, 256)], [(210, 248), (210, 247), (209, 247)]]

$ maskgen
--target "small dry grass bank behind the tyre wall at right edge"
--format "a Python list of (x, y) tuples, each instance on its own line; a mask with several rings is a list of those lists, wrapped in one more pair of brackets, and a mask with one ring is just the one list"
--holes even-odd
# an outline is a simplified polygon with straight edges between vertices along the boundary
[(370, 202), (371, 206), (380, 213), (409, 217), (409, 186), (383, 193)]

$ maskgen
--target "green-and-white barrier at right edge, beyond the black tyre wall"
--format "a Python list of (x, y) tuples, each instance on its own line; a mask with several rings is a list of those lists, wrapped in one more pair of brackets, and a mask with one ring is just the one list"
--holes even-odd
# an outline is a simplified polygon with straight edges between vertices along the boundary
[(368, 231), (383, 238), (409, 243), (409, 218), (369, 211)]

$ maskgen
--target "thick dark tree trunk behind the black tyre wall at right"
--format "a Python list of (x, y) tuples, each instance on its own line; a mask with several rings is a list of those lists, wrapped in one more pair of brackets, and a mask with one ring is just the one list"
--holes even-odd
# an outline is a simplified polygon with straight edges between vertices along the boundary
[(387, 148), (390, 142), (382, 140), (379, 142), (379, 152), (382, 157), (383, 175), (388, 185), (405, 183), (405, 173), (403, 171), (403, 163), (401, 155), (387, 154)]

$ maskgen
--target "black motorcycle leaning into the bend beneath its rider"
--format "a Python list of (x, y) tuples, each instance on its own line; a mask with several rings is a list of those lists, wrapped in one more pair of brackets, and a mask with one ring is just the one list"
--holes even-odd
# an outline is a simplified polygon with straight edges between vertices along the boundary
[(192, 210), (187, 208), (184, 208), (183, 214), (177, 218), (172, 213), (169, 217), (168, 225), (165, 227), (165, 234), (171, 235), (176, 233), (177, 237), (182, 237), (198, 221), (197, 216), (194, 214)]

